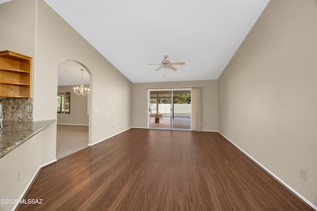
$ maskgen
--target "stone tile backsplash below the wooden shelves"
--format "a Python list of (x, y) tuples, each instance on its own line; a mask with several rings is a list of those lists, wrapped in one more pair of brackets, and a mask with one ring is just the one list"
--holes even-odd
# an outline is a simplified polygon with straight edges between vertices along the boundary
[(4, 98), (0, 103), (4, 121), (33, 121), (32, 98)]

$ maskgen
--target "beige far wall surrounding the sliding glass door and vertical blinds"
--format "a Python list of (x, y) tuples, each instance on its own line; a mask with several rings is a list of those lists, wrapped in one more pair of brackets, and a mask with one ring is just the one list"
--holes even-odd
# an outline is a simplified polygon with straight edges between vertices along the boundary
[(203, 130), (218, 130), (218, 88), (217, 80), (175, 81), (158, 83), (134, 83), (132, 85), (132, 126), (148, 127), (148, 89), (166, 87), (202, 86)]

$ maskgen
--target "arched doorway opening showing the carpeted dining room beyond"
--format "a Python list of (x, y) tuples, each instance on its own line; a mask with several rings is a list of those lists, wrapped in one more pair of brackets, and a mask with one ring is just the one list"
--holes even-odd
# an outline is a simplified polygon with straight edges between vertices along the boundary
[(90, 96), (76, 95), (74, 87), (89, 88), (90, 72), (76, 60), (60, 61), (57, 84), (56, 159), (60, 159), (88, 147)]

